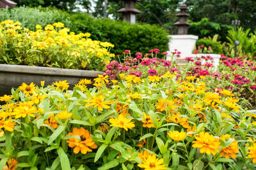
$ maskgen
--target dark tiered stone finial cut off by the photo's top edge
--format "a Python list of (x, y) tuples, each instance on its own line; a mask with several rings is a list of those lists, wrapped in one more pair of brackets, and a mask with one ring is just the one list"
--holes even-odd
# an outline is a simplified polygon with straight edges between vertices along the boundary
[(141, 13), (135, 8), (136, 1), (138, 0), (124, 0), (124, 8), (118, 10), (119, 13), (123, 14), (123, 20), (127, 20), (131, 24), (136, 23), (136, 15)]

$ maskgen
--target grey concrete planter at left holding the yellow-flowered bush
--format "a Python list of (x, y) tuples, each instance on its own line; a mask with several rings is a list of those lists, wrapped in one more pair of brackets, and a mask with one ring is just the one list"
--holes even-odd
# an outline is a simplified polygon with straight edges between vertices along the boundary
[(51, 85), (55, 81), (67, 80), (70, 83), (68, 89), (73, 89), (74, 85), (82, 78), (93, 80), (98, 74), (103, 73), (78, 69), (0, 64), (0, 96), (11, 94), (12, 87), (17, 88), (23, 82), (26, 84), (33, 82), (40, 85), (43, 80), (45, 86)]

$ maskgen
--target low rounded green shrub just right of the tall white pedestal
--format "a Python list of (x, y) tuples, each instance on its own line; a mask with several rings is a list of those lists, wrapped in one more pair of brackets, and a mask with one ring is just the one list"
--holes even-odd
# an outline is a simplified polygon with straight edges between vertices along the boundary
[(216, 34), (213, 38), (211, 37), (204, 37), (202, 39), (198, 39), (196, 41), (196, 46), (204, 45), (204, 46), (211, 46), (213, 53), (223, 53), (223, 46), (221, 45), (220, 41), (217, 41), (218, 34)]

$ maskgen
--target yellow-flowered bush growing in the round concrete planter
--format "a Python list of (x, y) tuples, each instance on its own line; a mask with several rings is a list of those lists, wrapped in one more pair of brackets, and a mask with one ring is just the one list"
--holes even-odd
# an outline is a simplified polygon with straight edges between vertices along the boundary
[(93, 41), (90, 33), (75, 34), (64, 24), (48, 24), (36, 31), (20, 26), (19, 22), (0, 23), (0, 64), (90, 69), (103, 71), (113, 53), (111, 43)]

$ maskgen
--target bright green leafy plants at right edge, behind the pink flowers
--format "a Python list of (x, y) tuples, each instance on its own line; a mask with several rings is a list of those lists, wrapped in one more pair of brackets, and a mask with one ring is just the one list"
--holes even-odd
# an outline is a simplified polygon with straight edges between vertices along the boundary
[(239, 27), (237, 31), (230, 30), (228, 31), (228, 43), (227, 43), (227, 55), (234, 57), (235, 54), (235, 40), (239, 41), (237, 46), (237, 56), (251, 56), (256, 55), (256, 31), (250, 33), (250, 29), (244, 29)]

